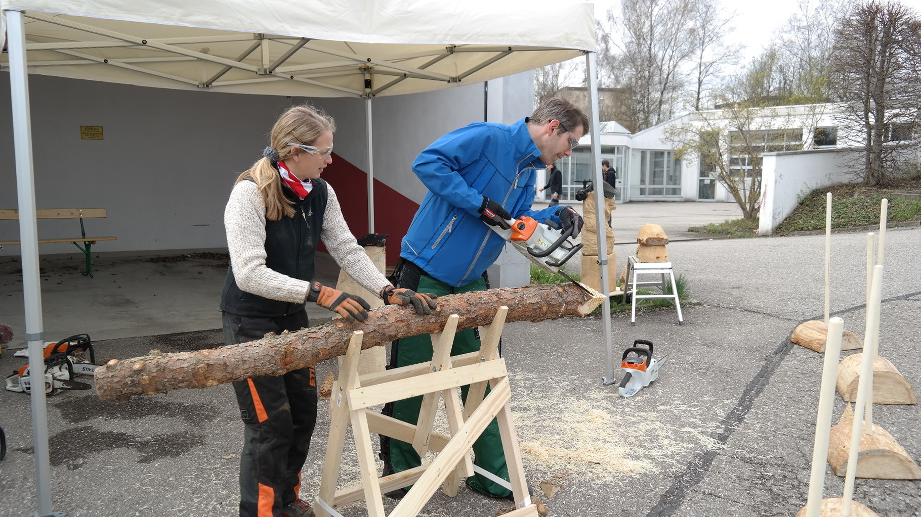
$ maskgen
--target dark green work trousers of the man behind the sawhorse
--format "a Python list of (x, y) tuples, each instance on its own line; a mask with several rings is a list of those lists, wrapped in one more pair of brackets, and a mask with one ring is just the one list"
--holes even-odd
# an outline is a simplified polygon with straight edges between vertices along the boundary
[[(415, 287), (401, 285), (414, 289), (417, 293), (435, 293), (438, 296), (452, 293), (468, 293), (471, 291), (484, 291), (486, 281), (480, 278), (461, 287), (451, 287), (442, 281), (423, 275), (419, 278), (419, 284)], [(391, 368), (415, 364), (418, 362), (429, 362), (432, 360), (432, 340), (428, 334), (422, 336), (413, 336), (402, 338), (394, 341), (391, 345)], [(451, 347), (451, 355), (460, 355), (462, 353), (480, 350), (480, 336), (476, 328), (461, 330), (454, 337), (454, 345)], [(467, 400), (467, 391), (470, 386), (461, 387), (461, 399)], [(486, 387), (486, 393), (489, 393), (489, 387)], [(419, 410), (422, 407), (422, 396), (404, 398), (388, 404), (384, 408), (384, 413), (389, 414), (395, 419), (401, 419), (404, 422), (415, 424), (419, 419)], [(406, 442), (400, 442), (395, 439), (383, 437), (380, 443), (381, 456), (384, 463), (391, 465), (393, 472), (402, 472), (409, 468), (422, 465), (419, 454), (416, 454), (413, 445)], [(506, 465), (506, 455), (502, 450), (502, 438), (499, 436), (499, 425), (493, 419), (486, 427), (486, 430), (480, 435), (480, 438), (473, 442), (473, 465), (477, 465), (487, 472), (495, 474), (508, 480), (508, 467)], [(385, 466), (385, 469), (387, 467)], [(495, 498), (507, 497), (511, 491), (490, 479), (479, 474), (474, 474), (467, 478), (467, 485), (478, 492)]]

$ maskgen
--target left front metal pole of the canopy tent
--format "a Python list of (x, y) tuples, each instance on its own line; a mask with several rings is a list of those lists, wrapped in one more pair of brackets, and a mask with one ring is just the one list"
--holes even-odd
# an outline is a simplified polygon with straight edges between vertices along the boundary
[(26, 341), (29, 345), (29, 377), (32, 393), (32, 443), (35, 449), (36, 516), (52, 513), (51, 466), (48, 454), (48, 408), (45, 399), (44, 356), (39, 281), (39, 237), (35, 218), (35, 178), (32, 167), (32, 122), (29, 115), (29, 74), (26, 69), (26, 27), (21, 11), (6, 11), (9, 83), (16, 154), (19, 209), (19, 241), (22, 243), (22, 292), (26, 309)]

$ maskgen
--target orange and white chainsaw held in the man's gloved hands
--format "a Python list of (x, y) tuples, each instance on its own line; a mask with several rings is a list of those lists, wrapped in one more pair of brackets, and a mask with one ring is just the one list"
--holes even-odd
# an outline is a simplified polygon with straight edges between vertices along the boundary
[(506, 224), (509, 227), (505, 229), (501, 226), (490, 226), (490, 228), (507, 242), (512, 243), (522, 255), (537, 266), (552, 273), (559, 273), (566, 280), (575, 283), (579, 289), (589, 293), (585, 286), (573, 280), (565, 271), (560, 270), (582, 249), (582, 243), (571, 239), (576, 229), (575, 226), (570, 226), (564, 231), (550, 219), (538, 223), (536, 219), (527, 216), (509, 219)]

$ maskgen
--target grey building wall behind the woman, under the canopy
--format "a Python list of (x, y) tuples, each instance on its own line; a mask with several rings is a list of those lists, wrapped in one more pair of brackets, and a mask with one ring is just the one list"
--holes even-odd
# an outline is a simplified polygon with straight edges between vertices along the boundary
[[(530, 77), (490, 82), (491, 120), (530, 115)], [(86, 223), (87, 235), (118, 237), (94, 248), (102, 253), (226, 247), (223, 212), (234, 179), (260, 156), (277, 116), (305, 100), (42, 75), (29, 76), (29, 89), (37, 205), (107, 209), (108, 218)], [(6, 74), (0, 75), (0, 98), (10, 98)], [(330, 174), (336, 159), (367, 170), (364, 100), (313, 101), (338, 126)], [(425, 188), (410, 170), (415, 155), (444, 132), (483, 120), (484, 85), (377, 98), (373, 106), (375, 178), (418, 202)], [(81, 140), (81, 125), (102, 126), (104, 139)], [(16, 207), (6, 101), (0, 103), (0, 208)], [(78, 232), (74, 220), (39, 222), (41, 237)], [(17, 222), (0, 222), (0, 240), (17, 239)], [(41, 254), (76, 251), (69, 243), (40, 247)], [(19, 252), (7, 246), (0, 256)]]

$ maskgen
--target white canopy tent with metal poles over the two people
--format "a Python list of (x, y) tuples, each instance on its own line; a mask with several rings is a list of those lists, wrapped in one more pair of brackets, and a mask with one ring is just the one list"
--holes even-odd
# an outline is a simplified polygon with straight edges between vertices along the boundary
[[(10, 73), (19, 213), (35, 213), (28, 74), (135, 86), (297, 97), (371, 99), (487, 81), (586, 54), (598, 134), (593, 6), (577, 0), (2, 0)], [(600, 149), (592, 144), (592, 159)], [(368, 163), (372, 163), (370, 159)], [(600, 170), (596, 182), (600, 184)], [(373, 173), (367, 170), (368, 192)], [(373, 195), (368, 196), (373, 218)], [(603, 206), (600, 189), (597, 206)], [(598, 227), (601, 223), (598, 215)], [(373, 219), (369, 221), (373, 232)], [(21, 217), (29, 363), (43, 329), (37, 223)], [(600, 248), (605, 247), (599, 235)], [(608, 285), (601, 258), (600, 285)], [(604, 306), (613, 382), (610, 309)], [(32, 393), (38, 509), (52, 515), (46, 402)], [(56, 513), (60, 514), (60, 513)]]

